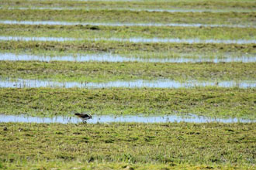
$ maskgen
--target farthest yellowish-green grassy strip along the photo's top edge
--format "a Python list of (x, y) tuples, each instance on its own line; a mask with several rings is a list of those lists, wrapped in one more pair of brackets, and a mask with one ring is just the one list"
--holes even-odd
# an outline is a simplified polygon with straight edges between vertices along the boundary
[(211, 8), (211, 9), (255, 9), (248, 1), (169, 1), (169, 2), (82, 2), (82, 1), (28, 1), (2, 0), (1, 6), (11, 7), (84, 7), (84, 8)]

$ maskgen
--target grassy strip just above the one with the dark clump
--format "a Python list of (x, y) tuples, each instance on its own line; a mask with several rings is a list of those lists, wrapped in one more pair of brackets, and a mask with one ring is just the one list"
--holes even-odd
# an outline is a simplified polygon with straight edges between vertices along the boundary
[(157, 23), (208, 23), (254, 25), (255, 12), (131, 12), (115, 10), (19, 10), (1, 9), (0, 19), (5, 20), (52, 20), (73, 22), (157, 22)]

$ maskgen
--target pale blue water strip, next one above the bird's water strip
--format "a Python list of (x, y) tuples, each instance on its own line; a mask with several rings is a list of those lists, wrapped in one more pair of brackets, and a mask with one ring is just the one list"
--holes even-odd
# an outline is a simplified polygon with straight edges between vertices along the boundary
[(188, 80), (179, 82), (175, 80), (130, 80), (130, 81), (110, 81), (106, 83), (92, 82), (57, 82), (50, 80), (0, 80), (0, 87), (4, 88), (38, 88), (38, 87), (63, 87), (63, 88), (110, 88), (110, 87), (126, 87), (126, 88), (190, 88), (190, 87), (238, 87), (238, 88), (254, 88), (256, 81), (197, 81)]

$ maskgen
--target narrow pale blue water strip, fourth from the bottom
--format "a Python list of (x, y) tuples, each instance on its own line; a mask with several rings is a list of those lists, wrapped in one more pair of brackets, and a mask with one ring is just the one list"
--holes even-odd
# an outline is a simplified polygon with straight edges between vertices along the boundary
[(256, 43), (254, 39), (171, 39), (171, 38), (141, 38), (134, 37), (129, 39), (121, 38), (88, 38), (88, 39), (75, 39), (64, 37), (23, 37), (23, 36), (0, 36), (0, 41), (52, 41), (52, 42), (64, 42), (64, 41), (114, 41), (114, 42), (147, 42), (147, 43), (216, 43), (216, 44), (251, 44)]

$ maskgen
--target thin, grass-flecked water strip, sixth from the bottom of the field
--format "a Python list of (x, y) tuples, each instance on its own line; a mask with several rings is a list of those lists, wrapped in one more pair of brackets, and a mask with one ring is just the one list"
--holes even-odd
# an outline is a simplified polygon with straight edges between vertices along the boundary
[(254, 12), (250, 9), (210, 9), (210, 8), (204, 8), (204, 9), (195, 9), (195, 8), (82, 8), (82, 7), (2, 7), (1, 9), (19, 9), (19, 10), (56, 10), (56, 11), (64, 11), (64, 10), (115, 10), (115, 11), (131, 11), (131, 12), (169, 12), (169, 13), (187, 13), (187, 12), (212, 12), (212, 13), (225, 13), (225, 12)]

